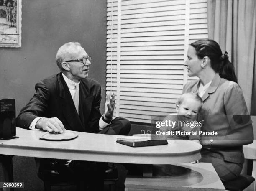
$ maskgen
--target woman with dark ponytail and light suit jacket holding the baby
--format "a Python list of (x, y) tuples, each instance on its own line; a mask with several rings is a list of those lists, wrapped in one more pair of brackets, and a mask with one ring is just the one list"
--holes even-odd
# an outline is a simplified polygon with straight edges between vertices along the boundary
[(183, 93), (198, 92), (203, 100), (201, 110), (203, 132), (201, 162), (212, 163), (222, 181), (230, 181), (241, 173), (243, 147), (253, 142), (253, 129), (233, 65), (218, 43), (210, 39), (195, 41), (187, 51), (188, 76), (199, 80), (185, 84)]

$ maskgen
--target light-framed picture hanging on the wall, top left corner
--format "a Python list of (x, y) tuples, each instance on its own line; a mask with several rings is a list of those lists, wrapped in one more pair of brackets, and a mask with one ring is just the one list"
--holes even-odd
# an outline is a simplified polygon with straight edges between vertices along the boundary
[(0, 0), (0, 47), (21, 47), (21, 0)]

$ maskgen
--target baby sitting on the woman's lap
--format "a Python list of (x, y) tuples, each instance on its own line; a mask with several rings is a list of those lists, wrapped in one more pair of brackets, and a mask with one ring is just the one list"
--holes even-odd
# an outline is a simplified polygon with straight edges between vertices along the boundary
[(160, 127), (160, 132), (172, 131), (172, 135), (168, 135), (167, 139), (185, 139), (200, 143), (198, 132), (202, 123), (197, 122), (197, 114), (201, 107), (202, 98), (198, 94), (182, 94), (176, 103), (177, 114), (170, 114), (164, 118), (166, 124)]

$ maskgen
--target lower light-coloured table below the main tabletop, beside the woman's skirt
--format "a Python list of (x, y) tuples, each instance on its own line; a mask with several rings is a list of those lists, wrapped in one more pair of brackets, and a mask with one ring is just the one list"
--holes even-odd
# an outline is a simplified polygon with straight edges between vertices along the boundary
[(162, 176), (127, 177), (125, 191), (225, 191), (211, 163), (183, 163), (162, 169)]

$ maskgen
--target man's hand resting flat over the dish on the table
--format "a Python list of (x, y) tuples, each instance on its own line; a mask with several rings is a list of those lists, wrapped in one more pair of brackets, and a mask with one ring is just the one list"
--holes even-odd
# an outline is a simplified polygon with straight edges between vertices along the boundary
[(36, 122), (36, 128), (48, 132), (63, 133), (65, 130), (64, 125), (57, 117), (46, 118), (42, 117)]

